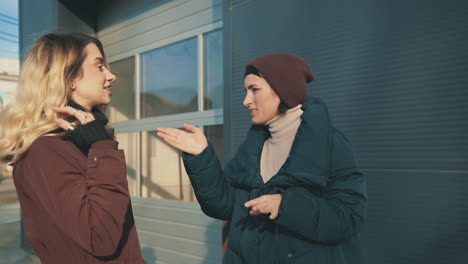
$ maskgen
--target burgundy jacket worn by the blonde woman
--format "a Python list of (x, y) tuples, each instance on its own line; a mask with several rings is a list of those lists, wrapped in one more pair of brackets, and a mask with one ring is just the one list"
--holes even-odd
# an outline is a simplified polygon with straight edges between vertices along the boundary
[(42, 136), (13, 171), (24, 230), (43, 264), (146, 263), (114, 140), (86, 157), (70, 141)]

